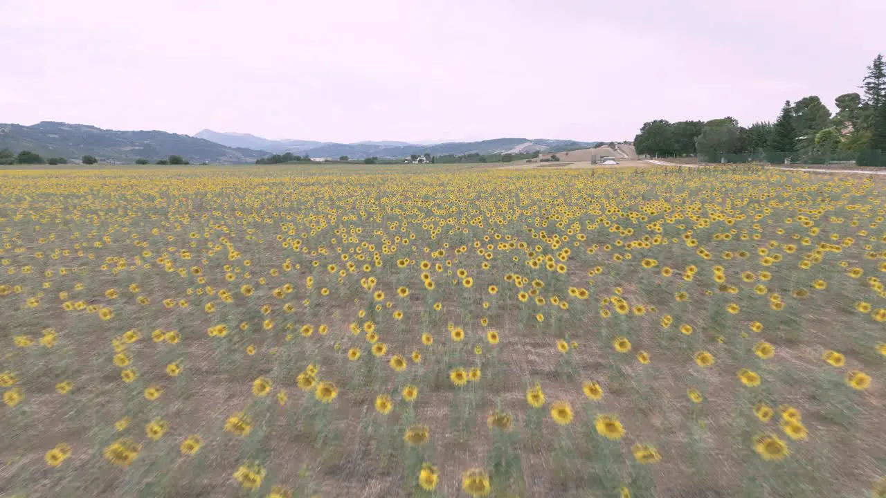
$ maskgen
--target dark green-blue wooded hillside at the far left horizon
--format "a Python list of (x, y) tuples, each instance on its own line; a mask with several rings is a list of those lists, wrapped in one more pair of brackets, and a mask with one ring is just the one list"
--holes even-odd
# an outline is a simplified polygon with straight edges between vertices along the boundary
[(159, 160), (177, 154), (191, 163), (242, 164), (268, 155), (165, 131), (118, 131), (58, 121), (41, 121), (33, 126), (0, 123), (0, 149), (68, 160), (89, 154), (98, 160), (117, 162)]

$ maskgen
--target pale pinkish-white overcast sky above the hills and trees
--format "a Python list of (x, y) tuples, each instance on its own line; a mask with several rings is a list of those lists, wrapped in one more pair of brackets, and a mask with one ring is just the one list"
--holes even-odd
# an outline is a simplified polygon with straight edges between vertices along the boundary
[(0, 0), (0, 122), (633, 139), (856, 91), (883, 0)]

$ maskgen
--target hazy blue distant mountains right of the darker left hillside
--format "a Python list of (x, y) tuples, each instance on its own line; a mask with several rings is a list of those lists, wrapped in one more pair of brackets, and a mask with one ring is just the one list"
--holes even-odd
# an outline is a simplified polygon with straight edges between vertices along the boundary
[(347, 156), (351, 159), (365, 159), (373, 156), (399, 159), (409, 157), (412, 154), (424, 154), (425, 152), (433, 156), (470, 153), (486, 155), (506, 152), (560, 152), (593, 147), (596, 144), (600, 144), (599, 142), (576, 142), (574, 140), (548, 140), (540, 138), (496, 138), (480, 142), (448, 142), (445, 144), (412, 144), (409, 142), (392, 141), (337, 144), (307, 140), (268, 140), (267, 138), (245, 133), (220, 133), (211, 129), (204, 129), (195, 136), (229, 147), (250, 147), (275, 154), (292, 152), (296, 155), (307, 154), (312, 158), (332, 159), (338, 159), (341, 156)]

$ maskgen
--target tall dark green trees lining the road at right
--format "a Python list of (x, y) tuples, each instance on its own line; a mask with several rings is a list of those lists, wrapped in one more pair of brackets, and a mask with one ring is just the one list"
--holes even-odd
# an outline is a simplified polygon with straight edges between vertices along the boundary
[[(832, 114), (820, 97), (786, 101), (774, 122), (745, 128), (731, 116), (711, 121), (649, 121), (633, 144), (638, 154), (657, 157), (696, 155), (717, 162), (727, 154), (750, 154), (770, 162), (818, 162), (835, 156), (859, 165), (872, 160), (871, 151), (886, 151), (886, 66), (882, 54), (867, 67), (863, 95), (845, 93), (835, 98)], [(886, 153), (876, 154), (886, 159)], [(886, 163), (879, 164), (886, 166)]]

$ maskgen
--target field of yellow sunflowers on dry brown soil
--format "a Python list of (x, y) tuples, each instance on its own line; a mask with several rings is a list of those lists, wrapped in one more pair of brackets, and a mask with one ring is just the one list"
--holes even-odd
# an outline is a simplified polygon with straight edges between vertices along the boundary
[(0, 171), (2, 496), (886, 496), (886, 183)]

